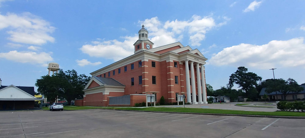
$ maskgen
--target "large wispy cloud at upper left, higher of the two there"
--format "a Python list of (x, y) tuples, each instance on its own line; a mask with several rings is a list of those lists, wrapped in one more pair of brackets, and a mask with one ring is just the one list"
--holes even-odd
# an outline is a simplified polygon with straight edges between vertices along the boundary
[(0, 30), (4, 28), (9, 29), (7, 31), (10, 35), (8, 40), (13, 42), (42, 45), (55, 41), (49, 35), (54, 32), (55, 27), (30, 12), (24, 12), (21, 15), (15, 13), (0, 14)]

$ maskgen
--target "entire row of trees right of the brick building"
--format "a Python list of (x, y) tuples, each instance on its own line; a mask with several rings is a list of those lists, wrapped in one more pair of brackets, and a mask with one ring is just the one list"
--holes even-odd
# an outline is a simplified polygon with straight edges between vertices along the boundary
[[(238, 85), (238, 88), (240, 89), (233, 89), (234, 85)], [(305, 85), (305, 83), (302, 85)], [(259, 93), (262, 88), (266, 88), (266, 93), (272, 93), (274, 91), (282, 92), (284, 97), (282, 100), (286, 100), (289, 93), (300, 92), (304, 89), (292, 78), (287, 80), (280, 78), (262, 81), (262, 77), (253, 72), (248, 72), (246, 67), (238, 67), (237, 70), (230, 75), (228, 84), (226, 84), (226, 86), (221, 86), (220, 89), (213, 90), (211, 85), (206, 84), (208, 96), (226, 95), (231, 98), (231, 101), (237, 100), (238, 96), (250, 98), (252, 100), (260, 98)]]

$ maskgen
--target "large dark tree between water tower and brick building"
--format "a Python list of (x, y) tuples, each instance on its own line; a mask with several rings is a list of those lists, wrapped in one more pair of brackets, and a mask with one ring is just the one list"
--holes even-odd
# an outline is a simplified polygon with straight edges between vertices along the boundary
[(91, 77), (88, 77), (85, 74), (78, 75), (75, 70), (63, 72), (63, 70), (60, 69), (56, 76), (62, 80), (63, 91), (61, 91), (60, 96), (68, 101), (68, 105), (71, 104), (71, 100), (83, 98), (83, 90), (91, 79)]

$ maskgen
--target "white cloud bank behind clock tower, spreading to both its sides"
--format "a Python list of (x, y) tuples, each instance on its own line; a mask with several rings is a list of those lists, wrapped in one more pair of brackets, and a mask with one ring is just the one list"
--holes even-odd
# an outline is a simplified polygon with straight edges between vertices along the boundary
[[(162, 23), (158, 17), (152, 17), (144, 20), (144, 26), (149, 31), (148, 37), (154, 43), (153, 47), (178, 42), (185, 36), (184, 32), (187, 32), (186, 34), (192, 46), (200, 46), (200, 42), (205, 39), (207, 31), (213, 27), (222, 26), (230, 20), (225, 16), (220, 19), (224, 20), (224, 22), (217, 24), (210, 16), (201, 17), (193, 15), (188, 21), (176, 19)], [(138, 21), (138, 24), (141, 26), (142, 23), (142, 21)], [(135, 30), (135, 33), (137, 32), (138, 30)], [(134, 53), (133, 44), (138, 40), (138, 34), (121, 38), (124, 39), (123, 42), (119, 40), (96, 39), (91, 44), (83, 45), (80, 50), (91, 57), (103, 57), (117, 61)]]

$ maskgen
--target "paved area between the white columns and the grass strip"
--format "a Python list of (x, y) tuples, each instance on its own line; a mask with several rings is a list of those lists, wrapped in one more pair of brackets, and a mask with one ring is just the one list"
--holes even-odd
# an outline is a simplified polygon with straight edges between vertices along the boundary
[(257, 107), (241, 107), (235, 106), (236, 103), (225, 103), (225, 104), (200, 104), (200, 105), (164, 105), (157, 107), (185, 107), (185, 108), (202, 108), (202, 109), (224, 109), (224, 110), (241, 110), (241, 111), (262, 111), (262, 112), (274, 112), (277, 108), (257, 108)]

